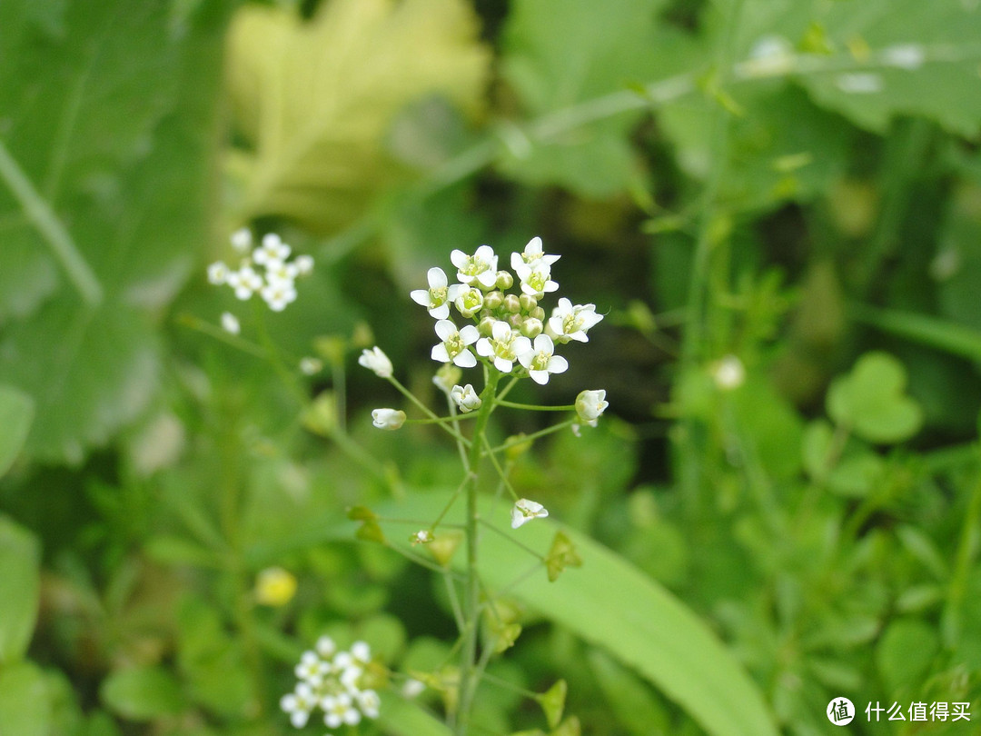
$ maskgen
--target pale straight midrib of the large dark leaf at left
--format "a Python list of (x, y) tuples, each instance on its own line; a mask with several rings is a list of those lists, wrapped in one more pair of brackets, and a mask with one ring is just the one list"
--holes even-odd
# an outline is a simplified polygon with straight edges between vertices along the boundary
[(27, 179), (24, 170), (7, 150), (3, 141), (0, 141), (0, 179), (10, 187), (27, 219), (44, 237), (81, 298), (91, 306), (98, 305), (103, 295), (98, 278), (78, 251), (68, 230), (44, 197)]

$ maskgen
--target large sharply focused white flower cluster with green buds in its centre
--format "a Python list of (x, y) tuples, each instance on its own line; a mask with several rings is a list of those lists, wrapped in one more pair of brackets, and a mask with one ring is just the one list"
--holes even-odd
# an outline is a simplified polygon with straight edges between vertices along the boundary
[[(569, 363), (554, 354), (556, 343), (588, 342), (587, 332), (602, 315), (596, 314), (594, 304), (573, 305), (563, 297), (545, 318), (539, 299), (558, 289), (551, 278), (551, 266), (558, 259), (542, 252), (542, 238), (533, 237), (522, 252), (511, 254), (513, 275), (497, 269), (497, 255), (490, 245), (481, 245), (473, 255), (462, 250), (450, 253), (458, 284), (449, 284), (442, 269), (431, 268), (429, 289), (416, 289), (410, 295), (437, 320), (439, 343), (433, 347), (433, 359), (472, 368), (479, 355), (501, 373), (517, 369), (538, 384), (547, 383), (553, 373), (563, 373)], [(515, 283), (517, 292), (508, 293)], [(471, 324), (458, 328), (450, 319), (450, 306)], [(454, 387), (453, 397), (461, 410), (472, 411), (480, 405), (479, 398), (472, 387), (469, 392), (467, 388)]]

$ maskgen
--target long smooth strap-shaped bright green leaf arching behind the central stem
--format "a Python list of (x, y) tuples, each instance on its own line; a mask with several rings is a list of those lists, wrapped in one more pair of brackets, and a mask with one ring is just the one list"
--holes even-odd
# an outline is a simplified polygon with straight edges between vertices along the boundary
[[(416, 496), (379, 512), (386, 518), (435, 518), (446, 498)], [(500, 534), (482, 538), (481, 574), (491, 591), (507, 587), (510, 598), (634, 668), (712, 736), (775, 736), (762, 696), (745, 670), (674, 596), (614, 552), (564, 528), (583, 567), (554, 584), (547, 582), (543, 569), (515, 584), (515, 571), (527, 569), (530, 556), (510, 538), (543, 556), (560, 527), (550, 519), (536, 519), (516, 532), (504, 509), (497, 507), (491, 515), (490, 508), (488, 502), (483, 517)], [(460, 512), (454, 511), (447, 519), (459, 521)]]

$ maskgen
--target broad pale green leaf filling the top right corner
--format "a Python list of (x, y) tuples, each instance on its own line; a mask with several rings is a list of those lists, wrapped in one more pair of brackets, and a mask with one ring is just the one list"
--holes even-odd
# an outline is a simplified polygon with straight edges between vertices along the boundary
[[(805, 48), (815, 29), (822, 53)], [(883, 132), (896, 116), (920, 115), (967, 136), (981, 129), (974, 93), (981, 7), (974, 3), (751, 0), (739, 35), (742, 55), (766, 38), (803, 52), (793, 64), (800, 83), (818, 104), (862, 128)]]

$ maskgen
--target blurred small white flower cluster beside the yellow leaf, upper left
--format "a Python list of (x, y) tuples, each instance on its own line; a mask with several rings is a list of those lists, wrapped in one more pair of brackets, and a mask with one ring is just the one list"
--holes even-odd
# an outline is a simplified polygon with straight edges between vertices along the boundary
[[(208, 281), (229, 285), (242, 301), (258, 293), (274, 312), (282, 312), (296, 300), (296, 279), (313, 271), (313, 257), (298, 255), (289, 260), (291, 248), (275, 233), (263, 236), (262, 243), (253, 248), (252, 233), (242, 228), (232, 234), (232, 248), (242, 256), (238, 268), (232, 270), (224, 261), (216, 261), (208, 266)], [(225, 329), (236, 334), (228, 326)]]

